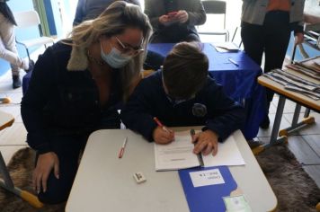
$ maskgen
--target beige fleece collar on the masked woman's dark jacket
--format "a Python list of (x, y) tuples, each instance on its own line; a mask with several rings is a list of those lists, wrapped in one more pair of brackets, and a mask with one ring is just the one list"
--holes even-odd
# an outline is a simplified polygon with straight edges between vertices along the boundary
[(88, 67), (86, 48), (72, 47), (71, 56), (67, 62), (68, 71), (84, 71)]

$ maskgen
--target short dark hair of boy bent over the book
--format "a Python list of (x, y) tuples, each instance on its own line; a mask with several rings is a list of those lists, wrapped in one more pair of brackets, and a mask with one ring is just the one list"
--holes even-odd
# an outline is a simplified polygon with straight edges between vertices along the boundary
[(201, 51), (201, 44), (176, 44), (164, 59), (164, 85), (170, 97), (189, 99), (206, 83), (209, 59)]

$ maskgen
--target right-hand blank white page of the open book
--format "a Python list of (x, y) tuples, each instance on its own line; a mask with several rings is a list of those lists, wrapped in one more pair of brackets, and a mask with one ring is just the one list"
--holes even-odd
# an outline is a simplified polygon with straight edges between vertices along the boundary
[(218, 154), (202, 155), (205, 167), (218, 165), (244, 165), (242, 157), (234, 136), (227, 137), (223, 143), (218, 143)]

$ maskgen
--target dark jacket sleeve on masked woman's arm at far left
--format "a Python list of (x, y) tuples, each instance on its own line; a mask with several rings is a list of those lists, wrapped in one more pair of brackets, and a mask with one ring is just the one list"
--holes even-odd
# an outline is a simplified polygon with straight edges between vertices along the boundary
[(22, 119), (28, 131), (27, 142), (40, 154), (51, 150), (45, 132), (43, 109), (52, 93), (52, 84), (55, 79), (55, 64), (51, 49), (48, 48), (41, 55), (34, 66), (27, 93), (22, 98)]

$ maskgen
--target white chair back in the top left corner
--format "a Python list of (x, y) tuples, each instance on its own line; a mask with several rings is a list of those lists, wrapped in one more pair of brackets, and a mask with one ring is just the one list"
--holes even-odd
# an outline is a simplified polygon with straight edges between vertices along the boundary
[(31, 27), (40, 24), (39, 15), (34, 10), (14, 13), (14, 19), (19, 28)]

